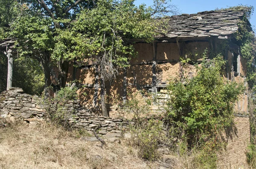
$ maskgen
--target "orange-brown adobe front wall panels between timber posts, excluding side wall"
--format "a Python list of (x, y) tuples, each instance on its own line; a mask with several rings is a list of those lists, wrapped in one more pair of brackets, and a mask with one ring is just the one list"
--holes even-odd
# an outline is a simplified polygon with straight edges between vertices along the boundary
[[(184, 55), (187, 54), (193, 61), (201, 58), (204, 50), (209, 48), (208, 42), (179, 42), (179, 45), (180, 48), (183, 48)], [(131, 58), (131, 66), (126, 70), (127, 93), (134, 93), (139, 90), (147, 91), (152, 87), (153, 44), (137, 43), (134, 45), (134, 48), (137, 51), (137, 57)], [(156, 62), (157, 85), (166, 85), (169, 79), (177, 77), (180, 72), (180, 50), (177, 47), (177, 43), (157, 43)], [(67, 82), (72, 81), (73, 77), (75, 77), (80, 81), (81, 85), (87, 86), (79, 90), (79, 99), (85, 106), (92, 105), (95, 86), (95, 70), (93, 66), (90, 68), (77, 68), (76, 76), (73, 75), (73, 71), (73, 67), (69, 69)], [(123, 70), (119, 70), (119, 75), (116, 76), (116, 79), (113, 79), (111, 82), (105, 82), (108, 104), (113, 105), (116, 100), (122, 99), (124, 86), (123, 72)]]

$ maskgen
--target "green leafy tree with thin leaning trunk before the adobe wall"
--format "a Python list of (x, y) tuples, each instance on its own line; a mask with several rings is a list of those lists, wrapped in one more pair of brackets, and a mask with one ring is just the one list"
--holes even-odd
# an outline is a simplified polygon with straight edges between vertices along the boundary
[(67, 40), (77, 44), (71, 53), (81, 61), (88, 58), (100, 74), (103, 115), (108, 115), (105, 81), (129, 66), (129, 59), (136, 54), (134, 39), (151, 42), (159, 34), (164, 21), (156, 17), (171, 12), (166, 5), (165, 0), (155, 0), (154, 6), (148, 8), (135, 6), (134, 0), (99, 0), (95, 8), (82, 11), (71, 24), (68, 37), (74, 39)]

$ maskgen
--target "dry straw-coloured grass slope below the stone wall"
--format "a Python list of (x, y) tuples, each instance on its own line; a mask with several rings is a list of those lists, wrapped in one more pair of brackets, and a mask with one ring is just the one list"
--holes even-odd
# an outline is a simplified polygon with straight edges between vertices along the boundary
[(156, 169), (127, 144), (85, 141), (77, 131), (46, 124), (0, 129), (0, 169)]

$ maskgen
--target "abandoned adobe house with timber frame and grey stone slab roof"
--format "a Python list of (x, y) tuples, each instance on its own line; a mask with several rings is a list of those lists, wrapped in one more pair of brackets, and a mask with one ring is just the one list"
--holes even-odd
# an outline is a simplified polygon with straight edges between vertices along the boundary
[[(157, 37), (153, 43), (137, 40), (134, 45), (137, 57), (131, 59), (130, 68), (120, 71), (112, 82), (106, 82), (107, 102), (110, 107), (114, 107), (116, 99), (127, 99), (127, 93), (138, 90), (164, 91), (162, 89), (168, 85), (168, 79), (178, 76), (182, 71), (180, 57), (186, 56), (191, 60), (188, 75), (193, 76), (193, 63), (200, 64), (204, 51), (207, 49), (207, 57), (210, 58), (210, 53), (219, 53), (224, 44), (227, 44), (224, 48), (224, 58), (227, 60), (225, 77), (244, 82), (246, 86), (246, 63), (240, 56), (239, 46), (234, 43), (234, 34), (243, 17), (243, 11), (233, 10), (204, 11), (168, 17), (167, 33)], [(250, 25), (249, 22), (248, 24)], [(100, 89), (93, 65), (70, 67), (68, 82), (73, 80), (79, 80), (80, 85), (85, 86), (79, 90), (84, 105), (93, 107), (100, 104)], [(114, 109), (108, 110), (110, 116), (117, 113)], [(244, 93), (237, 103), (236, 110), (239, 114), (247, 112), (247, 93)]]

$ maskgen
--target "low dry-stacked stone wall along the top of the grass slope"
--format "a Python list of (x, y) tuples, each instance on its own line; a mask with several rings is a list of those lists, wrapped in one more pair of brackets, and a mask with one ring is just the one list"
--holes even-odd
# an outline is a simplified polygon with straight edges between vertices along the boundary
[[(40, 97), (23, 93), (21, 88), (12, 87), (8, 91), (3, 91), (0, 94), (0, 123), (18, 120), (36, 124), (47, 120), (47, 111), (42, 103)], [(99, 134), (120, 137), (121, 131), (129, 124), (128, 121), (120, 118), (96, 117), (91, 110), (82, 107), (79, 101), (69, 101), (65, 107), (67, 111), (73, 112), (69, 119), (73, 128), (91, 131), (101, 124)]]

